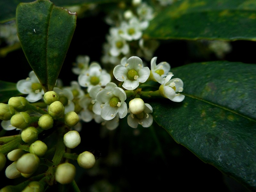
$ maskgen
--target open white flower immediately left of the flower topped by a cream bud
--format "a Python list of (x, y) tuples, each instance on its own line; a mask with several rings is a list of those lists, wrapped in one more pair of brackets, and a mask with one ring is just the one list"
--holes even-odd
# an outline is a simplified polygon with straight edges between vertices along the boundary
[(124, 118), (127, 115), (126, 94), (115, 83), (108, 83), (105, 89), (97, 94), (96, 99), (104, 103), (101, 105), (102, 109), (100, 111), (103, 119), (111, 120), (117, 114), (119, 114), (120, 118)]

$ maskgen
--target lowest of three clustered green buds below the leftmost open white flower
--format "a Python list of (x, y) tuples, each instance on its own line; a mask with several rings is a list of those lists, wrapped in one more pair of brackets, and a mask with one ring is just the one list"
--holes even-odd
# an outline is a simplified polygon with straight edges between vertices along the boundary
[(20, 112), (12, 116), (11, 124), (19, 129), (25, 129), (30, 124), (31, 117), (26, 112)]

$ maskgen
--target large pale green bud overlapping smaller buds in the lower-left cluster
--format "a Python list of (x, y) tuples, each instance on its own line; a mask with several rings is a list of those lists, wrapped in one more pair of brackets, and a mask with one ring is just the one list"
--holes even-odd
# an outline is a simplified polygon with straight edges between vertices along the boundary
[(35, 154), (26, 153), (18, 159), (16, 168), (22, 173), (31, 174), (36, 171), (39, 163), (40, 160), (38, 156)]

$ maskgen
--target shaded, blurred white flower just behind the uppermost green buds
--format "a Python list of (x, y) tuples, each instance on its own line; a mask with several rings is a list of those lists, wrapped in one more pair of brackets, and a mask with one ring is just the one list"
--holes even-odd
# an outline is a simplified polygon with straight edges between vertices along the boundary
[(53, 91), (56, 92), (59, 95), (60, 102), (63, 104), (65, 108), (65, 114), (68, 113), (69, 111), (74, 111), (75, 110), (75, 104), (73, 103), (73, 93), (67, 89), (60, 89), (58, 87), (54, 87)]

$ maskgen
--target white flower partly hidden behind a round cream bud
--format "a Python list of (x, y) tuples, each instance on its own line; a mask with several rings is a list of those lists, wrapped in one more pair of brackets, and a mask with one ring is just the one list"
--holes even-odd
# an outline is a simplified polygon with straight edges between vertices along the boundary
[(132, 128), (137, 128), (138, 124), (143, 127), (149, 127), (153, 123), (153, 117), (149, 114), (152, 112), (153, 109), (148, 103), (145, 103), (144, 111), (137, 115), (134, 115), (129, 108), (128, 113), (130, 113), (130, 115), (127, 117), (127, 123)]

